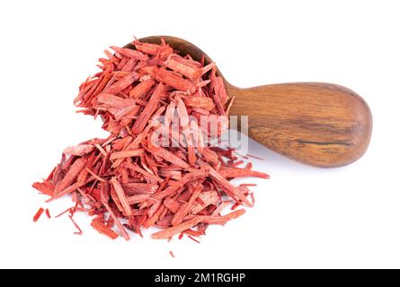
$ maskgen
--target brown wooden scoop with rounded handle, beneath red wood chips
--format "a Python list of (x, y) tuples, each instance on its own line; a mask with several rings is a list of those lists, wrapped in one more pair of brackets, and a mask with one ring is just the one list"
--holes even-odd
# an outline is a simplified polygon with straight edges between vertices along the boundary
[[(211, 59), (195, 45), (170, 36), (164, 40), (182, 56)], [(133, 48), (127, 45), (128, 48)], [(218, 74), (222, 76), (220, 71)], [(248, 116), (249, 136), (272, 151), (318, 167), (339, 167), (367, 150), (372, 116), (367, 103), (333, 83), (280, 83), (237, 88), (224, 78), (229, 97), (236, 97), (230, 115)]]

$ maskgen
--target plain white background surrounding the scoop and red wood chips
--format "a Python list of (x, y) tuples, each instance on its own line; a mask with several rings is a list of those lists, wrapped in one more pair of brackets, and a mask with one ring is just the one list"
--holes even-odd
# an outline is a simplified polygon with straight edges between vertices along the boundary
[[(398, 1), (2, 1), (0, 2), (0, 267), (400, 267)], [(369, 151), (350, 166), (321, 170), (257, 143), (253, 161), (270, 180), (256, 205), (197, 244), (134, 236), (110, 240), (76, 216), (32, 222), (31, 188), (62, 150), (105, 135), (75, 113), (79, 83), (103, 48), (133, 35), (173, 35), (197, 44), (228, 81), (340, 83), (367, 100)], [(176, 258), (169, 256), (172, 250)]]

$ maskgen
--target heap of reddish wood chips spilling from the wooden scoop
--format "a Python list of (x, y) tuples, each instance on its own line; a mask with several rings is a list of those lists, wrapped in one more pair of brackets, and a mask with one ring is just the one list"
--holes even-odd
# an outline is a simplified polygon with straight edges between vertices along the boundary
[[(164, 40), (131, 45), (136, 49), (106, 50), (102, 71), (81, 84), (75, 100), (78, 112), (102, 117), (110, 136), (68, 147), (49, 177), (33, 187), (50, 196), (48, 202), (71, 195), (75, 204), (66, 213), (76, 234), (81, 230), (73, 216), (84, 212), (94, 216), (93, 229), (111, 239), (128, 240), (127, 230), (141, 236), (141, 228), (152, 226), (162, 229), (154, 239), (197, 237), (209, 224), (241, 216), (244, 209), (236, 207), (253, 206), (253, 185), (236, 187), (229, 180), (268, 175), (251, 170), (250, 162), (239, 168), (244, 161), (233, 149), (204, 144), (227, 128), (233, 101), (216, 65), (179, 56)], [(160, 130), (167, 146), (156, 144)]]

